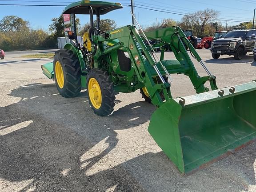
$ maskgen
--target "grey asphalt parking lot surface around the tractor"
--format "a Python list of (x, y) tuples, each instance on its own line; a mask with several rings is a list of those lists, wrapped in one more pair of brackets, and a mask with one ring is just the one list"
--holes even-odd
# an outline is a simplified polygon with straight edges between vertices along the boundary
[[(198, 52), (219, 88), (256, 79), (252, 53), (237, 61)], [(256, 143), (183, 176), (149, 135), (155, 107), (139, 91), (116, 95), (113, 114), (99, 117), (85, 90), (58, 94), (40, 68), (51, 60), (24, 54), (0, 60), (0, 192), (256, 192)], [(195, 94), (186, 76), (172, 78), (174, 97)]]

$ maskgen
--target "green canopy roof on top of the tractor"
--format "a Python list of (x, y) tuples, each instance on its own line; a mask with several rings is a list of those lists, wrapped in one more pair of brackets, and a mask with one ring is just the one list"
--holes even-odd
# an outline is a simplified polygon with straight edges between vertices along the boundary
[(108, 12), (111, 12), (116, 9), (123, 8), (120, 3), (110, 3), (104, 1), (90, 1), (90, 0), (81, 0), (75, 3), (68, 5), (63, 14), (83, 14), (89, 15), (88, 7), (92, 7), (94, 14), (104, 15)]

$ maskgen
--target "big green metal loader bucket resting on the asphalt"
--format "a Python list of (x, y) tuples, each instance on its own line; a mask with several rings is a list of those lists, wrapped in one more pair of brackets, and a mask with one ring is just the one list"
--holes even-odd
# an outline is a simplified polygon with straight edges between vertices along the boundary
[(256, 82), (166, 101), (148, 132), (189, 175), (256, 140)]

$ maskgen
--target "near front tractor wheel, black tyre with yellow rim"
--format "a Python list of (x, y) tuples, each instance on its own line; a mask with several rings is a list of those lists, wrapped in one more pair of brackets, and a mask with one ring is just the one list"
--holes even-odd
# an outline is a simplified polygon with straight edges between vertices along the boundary
[(115, 106), (114, 86), (106, 71), (93, 68), (87, 76), (87, 92), (94, 113), (108, 116)]

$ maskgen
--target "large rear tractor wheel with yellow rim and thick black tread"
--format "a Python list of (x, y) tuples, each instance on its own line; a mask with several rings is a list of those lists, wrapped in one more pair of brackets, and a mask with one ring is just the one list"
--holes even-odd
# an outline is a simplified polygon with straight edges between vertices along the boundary
[(81, 91), (81, 68), (72, 51), (60, 49), (53, 59), (54, 79), (58, 92), (64, 97), (75, 97)]

